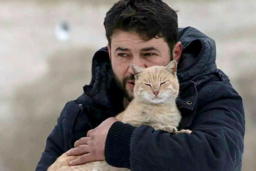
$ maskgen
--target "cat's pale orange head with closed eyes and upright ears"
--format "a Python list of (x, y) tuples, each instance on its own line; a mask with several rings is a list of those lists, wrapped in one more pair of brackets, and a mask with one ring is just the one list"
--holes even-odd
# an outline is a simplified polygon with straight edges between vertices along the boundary
[(134, 87), (136, 100), (154, 104), (175, 101), (179, 94), (176, 68), (175, 60), (171, 61), (166, 67), (153, 66), (145, 69), (132, 64), (136, 77)]

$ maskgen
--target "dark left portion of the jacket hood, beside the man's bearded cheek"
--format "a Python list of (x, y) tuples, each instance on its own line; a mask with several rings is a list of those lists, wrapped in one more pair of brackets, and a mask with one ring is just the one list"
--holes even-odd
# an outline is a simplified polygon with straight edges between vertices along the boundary
[(116, 114), (123, 111), (124, 93), (115, 81), (107, 47), (95, 52), (91, 73), (91, 82), (88, 86), (84, 86), (84, 94), (78, 100), (84, 99), (92, 108), (105, 112), (110, 110)]

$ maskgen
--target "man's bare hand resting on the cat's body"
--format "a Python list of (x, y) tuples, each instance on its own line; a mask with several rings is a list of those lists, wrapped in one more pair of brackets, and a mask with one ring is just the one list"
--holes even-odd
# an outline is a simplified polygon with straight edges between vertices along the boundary
[(70, 166), (81, 165), (90, 161), (105, 160), (105, 141), (107, 132), (118, 121), (115, 117), (110, 117), (104, 120), (98, 127), (87, 132), (86, 137), (83, 137), (75, 142), (75, 148), (67, 152), (68, 156), (78, 156), (79, 158), (69, 162)]

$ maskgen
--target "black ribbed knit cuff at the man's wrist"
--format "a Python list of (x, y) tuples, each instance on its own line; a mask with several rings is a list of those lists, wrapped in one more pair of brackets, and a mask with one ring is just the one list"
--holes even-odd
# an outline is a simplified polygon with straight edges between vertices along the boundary
[(136, 127), (115, 122), (107, 133), (105, 160), (114, 167), (130, 168), (130, 141)]

